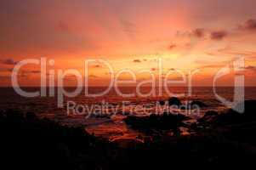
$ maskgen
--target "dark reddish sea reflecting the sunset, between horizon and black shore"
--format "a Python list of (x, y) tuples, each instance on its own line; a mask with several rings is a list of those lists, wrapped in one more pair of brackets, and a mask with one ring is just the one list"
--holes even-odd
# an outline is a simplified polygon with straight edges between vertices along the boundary
[[(22, 89), (27, 92), (40, 90), (40, 88)], [(68, 92), (72, 92), (74, 89), (65, 88)], [(90, 87), (88, 88), (88, 94), (99, 94), (105, 89), (105, 87)], [(221, 112), (228, 108), (227, 105), (216, 98), (212, 87), (194, 87), (191, 88), (191, 91), (185, 87), (169, 87), (168, 90), (172, 94), (164, 88), (144, 87), (140, 89), (140, 93), (147, 94), (152, 90), (154, 90), (154, 93), (151, 93), (151, 95), (141, 96), (134, 87), (111, 88), (103, 96), (89, 97), (85, 95), (85, 88), (83, 88), (82, 92), (75, 97), (65, 96), (64, 107), (60, 108), (58, 106), (57, 88), (54, 88), (55, 95), (53, 97), (38, 96), (33, 98), (20, 96), (14, 91), (14, 88), (0, 88), (0, 108), (1, 110), (18, 109), (34, 112), (41, 118), (46, 117), (66, 126), (84, 126), (89, 133), (110, 140), (138, 136), (139, 132), (129, 128), (122, 119), (129, 115), (146, 116), (155, 113), (158, 101), (168, 100), (173, 95), (178, 95), (183, 104), (187, 101), (199, 100), (208, 105), (208, 107), (201, 108), (199, 112), (196, 112), (196, 115), (185, 110), (179, 110), (182, 114), (192, 116), (194, 120), (202, 117), (206, 111)], [(134, 96), (124, 97), (120, 93), (134, 94)], [(216, 93), (222, 98), (232, 101), (236, 92), (232, 87), (218, 87)], [(242, 94), (239, 95), (243, 97)], [(256, 99), (256, 88), (244, 88), (244, 99)], [(88, 116), (88, 112), (93, 112), (93, 116)], [(102, 112), (105, 114), (102, 114)]]

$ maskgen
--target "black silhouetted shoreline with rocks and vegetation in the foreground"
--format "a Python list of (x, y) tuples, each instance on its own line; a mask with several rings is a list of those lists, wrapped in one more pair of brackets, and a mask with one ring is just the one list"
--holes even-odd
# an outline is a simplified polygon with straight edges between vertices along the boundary
[(3, 111), (0, 166), (71, 170), (247, 167), (256, 160), (254, 107), (254, 101), (247, 102), (245, 114), (238, 118), (236, 111), (224, 116), (208, 113), (191, 125), (189, 136), (159, 135), (128, 148), (96, 138), (83, 127), (63, 127), (32, 113)]

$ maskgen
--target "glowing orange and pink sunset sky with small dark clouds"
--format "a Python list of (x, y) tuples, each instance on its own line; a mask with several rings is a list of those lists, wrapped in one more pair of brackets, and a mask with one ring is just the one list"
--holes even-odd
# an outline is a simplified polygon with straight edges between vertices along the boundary
[[(197, 86), (212, 85), (220, 68), (244, 57), (246, 85), (256, 86), (255, 7), (255, 0), (2, 0), (0, 86), (10, 86), (17, 62), (41, 57), (54, 59), (55, 70), (82, 75), (85, 59), (105, 59), (114, 72), (158, 75), (161, 58), (162, 75), (200, 69)], [(19, 75), (24, 86), (40, 83), (37, 65), (26, 65)], [(232, 85), (232, 75), (219, 85)], [(105, 85), (109, 71), (95, 63), (89, 77), (92, 85)], [(138, 73), (139, 80), (148, 78)]]

